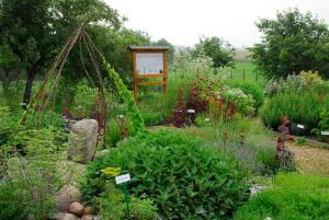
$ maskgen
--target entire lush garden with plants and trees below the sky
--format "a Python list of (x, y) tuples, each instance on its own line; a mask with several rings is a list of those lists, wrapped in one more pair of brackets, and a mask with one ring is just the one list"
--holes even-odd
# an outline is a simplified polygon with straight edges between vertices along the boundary
[[(279, 12), (241, 61), (218, 37), (152, 42), (103, 1), (26, 2), (0, 2), (0, 220), (329, 219), (327, 25)], [(138, 96), (132, 45), (168, 56)]]

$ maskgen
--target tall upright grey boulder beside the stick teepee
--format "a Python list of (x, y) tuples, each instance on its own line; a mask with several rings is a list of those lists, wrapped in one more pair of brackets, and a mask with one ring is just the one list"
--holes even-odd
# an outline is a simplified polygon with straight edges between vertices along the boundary
[(87, 164), (92, 160), (98, 141), (99, 125), (94, 119), (76, 123), (69, 135), (68, 159)]

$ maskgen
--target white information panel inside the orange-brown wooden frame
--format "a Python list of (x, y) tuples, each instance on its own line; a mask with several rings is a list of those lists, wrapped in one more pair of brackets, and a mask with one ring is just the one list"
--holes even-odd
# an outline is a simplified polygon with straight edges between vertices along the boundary
[(162, 53), (137, 53), (136, 66), (138, 74), (162, 73), (163, 54)]

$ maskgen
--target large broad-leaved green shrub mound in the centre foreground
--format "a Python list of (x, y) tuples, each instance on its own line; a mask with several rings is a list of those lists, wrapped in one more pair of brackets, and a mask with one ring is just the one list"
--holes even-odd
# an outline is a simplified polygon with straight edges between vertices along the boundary
[(107, 166), (131, 173), (131, 193), (151, 198), (164, 219), (225, 219), (248, 188), (246, 173), (229, 153), (168, 130), (125, 140), (89, 164), (81, 187), (87, 199), (104, 192), (100, 170)]

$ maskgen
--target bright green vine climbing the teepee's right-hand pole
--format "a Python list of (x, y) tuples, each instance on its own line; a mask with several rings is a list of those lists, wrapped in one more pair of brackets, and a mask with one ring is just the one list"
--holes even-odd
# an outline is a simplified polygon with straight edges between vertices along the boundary
[(127, 116), (132, 121), (132, 128), (134, 129), (133, 132), (146, 132), (143, 117), (138, 107), (136, 106), (133, 94), (128, 91), (120, 76), (110, 67), (110, 65), (105, 61), (104, 58), (102, 61), (105, 70), (107, 71), (107, 74), (114, 82), (114, 86), (116, 88), (118, 95), (127, 106)]

